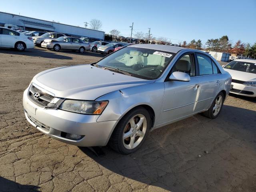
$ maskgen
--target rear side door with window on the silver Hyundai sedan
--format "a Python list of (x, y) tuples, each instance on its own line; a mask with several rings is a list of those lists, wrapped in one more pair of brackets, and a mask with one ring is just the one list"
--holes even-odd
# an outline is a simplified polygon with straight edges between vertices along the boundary
[(208, 55), (196, 52), (196, 62), (200, 77), (200, 94), (196, 111), (200, 112), (207, 109), (220, 92), (222, 78), (220, 70)]

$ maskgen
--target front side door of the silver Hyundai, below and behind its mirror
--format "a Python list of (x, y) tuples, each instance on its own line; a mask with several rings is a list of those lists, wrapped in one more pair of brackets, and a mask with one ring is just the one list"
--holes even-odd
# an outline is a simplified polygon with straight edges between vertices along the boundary
[[(194, 52), (186, 52), (172, 67), (164, 82), (162, 124), (194, 114), (200, 87), (195, 63)], [(189, 74), (190, 81), (169, 80), (170, 74), (175, 71)]]

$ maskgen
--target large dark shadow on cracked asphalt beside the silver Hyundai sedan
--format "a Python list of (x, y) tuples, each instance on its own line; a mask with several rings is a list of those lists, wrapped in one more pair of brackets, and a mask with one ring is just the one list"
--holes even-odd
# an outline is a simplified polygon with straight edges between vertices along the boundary
[(128, 183), (154, 186), (152, 191), (228, 191), (243, 166), (251, 163), (256, 170), (255, 124), (256, 111), (225, 105), (216, 119), (197, 114), (153, 130), (141, 148), (129, 155), (108, 146), (101, 148), (104, 156), (90, 148), (80, 150), (128, 178)]

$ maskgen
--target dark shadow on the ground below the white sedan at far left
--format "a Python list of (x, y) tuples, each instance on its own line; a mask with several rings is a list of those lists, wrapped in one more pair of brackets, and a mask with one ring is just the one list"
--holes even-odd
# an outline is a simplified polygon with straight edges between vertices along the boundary
[(13, 49), (8, 49), (8, 48), (0, 48), (0, 53), (14, 54), (14, 55), (26, 55), (26, 56), (32, 56), (32, 57), (52, 58), (52, 59), (67, 59), (67, 60), (73, 59), (70, 56), (64, 56), (64, 55), (57, 54), (56, 52), (50, 52), (50, 51), (41, 50), (41, 49), (37, 49), (37, 48), (26, 49), (23, 52), (18, 52), (18, 51), (15, 51)]

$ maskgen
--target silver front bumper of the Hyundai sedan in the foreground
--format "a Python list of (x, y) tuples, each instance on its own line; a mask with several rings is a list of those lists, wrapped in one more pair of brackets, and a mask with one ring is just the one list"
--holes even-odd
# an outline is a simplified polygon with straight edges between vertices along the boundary
[[(28, 98), (28, 88), (23, 94), (23, 107), (26, 119), (38, 130), (51, 138), (76, 146), (105, 146), (118, 122), (97, 122), (98, 115), (42, 108)], [(73, 140), (66, 138), (65, 133), (84, 137)]]

